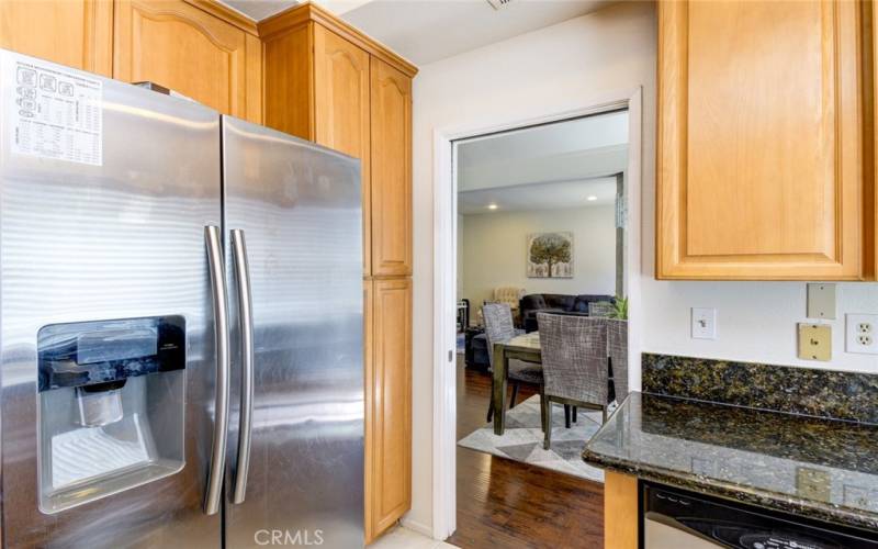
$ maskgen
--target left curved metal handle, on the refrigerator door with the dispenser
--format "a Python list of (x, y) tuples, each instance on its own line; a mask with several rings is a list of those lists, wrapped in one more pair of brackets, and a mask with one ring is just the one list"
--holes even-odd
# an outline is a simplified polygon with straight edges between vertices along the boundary
[(216, 347), (216, 395), (214, 401), (213, 445), (207, 473), (207, 490), (204, 494), (204, 514), (215, 515), (219, 511), (223, 495), (223, 472), (226, 463), (226, 438), (228, 436), (228, 295), (226, 293), (225, 260), (219, 228), (204, 227), (204, 244), (207, 248), (207, 269), (211, 273), (213, 296), (214, 338)]

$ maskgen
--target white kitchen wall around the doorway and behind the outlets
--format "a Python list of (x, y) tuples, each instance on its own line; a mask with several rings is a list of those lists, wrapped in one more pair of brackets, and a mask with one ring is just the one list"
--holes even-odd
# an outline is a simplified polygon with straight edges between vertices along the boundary
[[(843, 351), (833, 322), (833, 360), (796, 358), (804, 320), (803, 282), (664, 282), (653, 279), (655, 206), (655, 43), (650, 3), (598, 12), (421, 67), (414, 89), (414, 425), (413, 506), (407, 520), (431, 525), (432, 433), (432, 132), (542, 116), (583, 99), (643, 87), (642, 348), (676, 355), (878, 372), (878, 357)], [(450, 192), (450, 191), (449, 191)], [(635, 268), (638, 266), (634, 266)], [(719, 310), (719, 338), (689, 337), (689, 309)], [(838, 284), (838, 312), (878, 312), (878, 284)], [(632, 389), (639, 388), (639, 382)]]

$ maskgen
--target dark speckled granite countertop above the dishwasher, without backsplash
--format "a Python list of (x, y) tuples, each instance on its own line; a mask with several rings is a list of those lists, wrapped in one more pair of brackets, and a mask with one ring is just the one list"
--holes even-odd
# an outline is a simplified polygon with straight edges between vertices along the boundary
[(631, 393), (583, 459), (665, 484), (878, 529), (878, 426)]

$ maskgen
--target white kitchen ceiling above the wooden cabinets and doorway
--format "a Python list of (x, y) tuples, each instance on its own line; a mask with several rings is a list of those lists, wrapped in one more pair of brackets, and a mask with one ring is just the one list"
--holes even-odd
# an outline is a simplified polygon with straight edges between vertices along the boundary
[[(296, 0), (221, 0), (261, 21)], [(608, 0), (315, 0), (415, 65), (426, 65), (584, 15)]]

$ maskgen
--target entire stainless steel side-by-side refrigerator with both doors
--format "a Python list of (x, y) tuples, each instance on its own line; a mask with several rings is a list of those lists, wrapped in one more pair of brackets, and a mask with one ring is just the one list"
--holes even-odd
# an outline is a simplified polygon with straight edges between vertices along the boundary
[(4, 547), (363, 544), (359, 161), (0, 51)]

